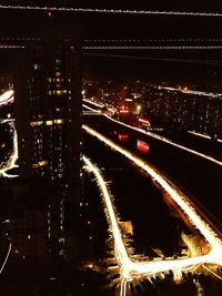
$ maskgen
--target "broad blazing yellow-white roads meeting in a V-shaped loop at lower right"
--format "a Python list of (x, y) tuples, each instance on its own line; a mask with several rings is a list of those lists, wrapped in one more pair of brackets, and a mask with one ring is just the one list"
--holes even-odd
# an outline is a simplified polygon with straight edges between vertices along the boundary
[(98, 183), (100, 185), (101, 192), (103, 194), (107, 210), (109, 213), (110, 224), (113, 232), (114, 238), (114, 251), (115, 257), (119, 262), (121, 268), (122, 284), (121, 284), (121, 295), (125, 295), (125, 283), (132, 279), (140, 279), (144, 276), (151, 277), (155, 274), (164, 273), (172, 271), (174, 278), (180, 279), (182, 272), (192, 271), (199, 264), (216, 264), (222, 266), (222, 243), (218, 237), (212, 227), (201, 217), (201, 215), (193, 208), (189, 203), (185, 195), (183, 195), (168, 178), (163, 177), (157, 170), (150, 166), (148, 163), (137, 157), (129, 151), (120, 147), (110, 141), (105, 136), (101, 135), (91, 127), (83, 125), (83, 129), (89, 134), (95, 136), (98, 140), (103, 142), (105, 145), (110, 146), (112, 150), (121, 153), (127, 159), (132, 161), (139, 167), (144, 170), (152, 178), (159, 183), (159, 185), (168, 192), (170, 198), (180, 207), (180, 210), (186, 215), (190, 222), (199, 229), (199, 232), (204, 236), (208, 243), (211, 245), (211, 249), (208, 254), (188, 257), (188, 258), (178, 258), (178, 259), (160, 259), (152, 262), (135, 262), (128, 256), (125, 246), (122, 241), (122, 236), (118, 226), (118, 217), (113, 208), (111, 197), (105, 187), (105, 183), (102, 180), (102, 176), (97, 167), (90, 164), (89, 160), (84, 157), (88, 166), (95, 174)]

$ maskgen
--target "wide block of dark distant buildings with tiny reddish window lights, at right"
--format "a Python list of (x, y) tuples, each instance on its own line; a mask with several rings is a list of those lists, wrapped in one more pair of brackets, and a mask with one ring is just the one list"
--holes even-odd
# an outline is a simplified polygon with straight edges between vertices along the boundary
[(220, 95), (151, 88), (149, 114), (157, 125), (193, 130), (212, 137), (222, 136), (222, 98)]

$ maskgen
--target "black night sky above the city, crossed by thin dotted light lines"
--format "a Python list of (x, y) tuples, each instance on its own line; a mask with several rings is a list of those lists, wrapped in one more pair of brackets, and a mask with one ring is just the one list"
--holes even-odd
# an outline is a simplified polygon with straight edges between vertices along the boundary
[[(11, 4), (11, 1), (1, 1), (1, 4)], [(98, 9), (138, 9), (159, 11), (192, 11), (192, 12), (222, 12), (220, 1), (13, 1), (13, 4), (75, 7)], [(222, 17), (185, 17), (185, 16), (141, 16), (141, 14), (108, 14), (87, 12), (52, 12), (49, 11), (18, 11), (0, 10), (1, 37), (71, 37), (75, 40), (85, 39), (212, 39), (222, 38)], [(78, 41), (77, 41), (78, 42)], [(222, 42), (206, 42), (221, 45)], [(147, 43), (145, 43), (147, 44)], [(165, 43), (183, 44), (183, 43)], [(189, 43), (190, 44), (190, 43)], [(205, 43), (204, 43), (205, 44)], [(89, 53), (89, 52), (88, 52)], [(208, 51), (98, 51), (98, 57), (84, 57), (84, 74), (88, 78), (144, 78), (175, 80), (179, 72), (184, 80), (209, 79), (218, 80), (221, 68), (168, 62), (165, 59), (221, 61), (221, 50)], [(139, 57), (140, 59), (123, 59), (118, 55)], [(151, 60), (141, 60), (145, 57)], [(160, 59), (157, 61), (157, 59)], [(161, 62), (162, 60), (162, 62)], [(0, 72), (10, 71), (17, 62), (14, 54), (1, 51)], [(209, 69), (211, 74), (209, 74)], [(212, 70), (211, 70), (212, 69)]]

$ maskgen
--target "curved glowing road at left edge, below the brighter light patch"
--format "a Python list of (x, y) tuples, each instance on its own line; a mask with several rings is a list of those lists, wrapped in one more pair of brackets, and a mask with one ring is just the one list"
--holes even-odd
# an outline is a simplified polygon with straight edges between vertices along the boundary
[(10, 125), (10, 127), (13, 130), (13, 150), (12, 150), (12, 153), (11, 153), (9, 160), (6, 163), (1, 164), (0, 175), (2, 175), (4, 177), (16, 177), (18, 175), (11, 175), (11, 174), (7, 173), (7, 171), (14, 169), (14, 167), (18, 167), (18, 165), (16, 164), (16, 162), (18, 160), (18, 135), (17, 135), (13, 120), (4, 120), (3, 123), (8, 123)]

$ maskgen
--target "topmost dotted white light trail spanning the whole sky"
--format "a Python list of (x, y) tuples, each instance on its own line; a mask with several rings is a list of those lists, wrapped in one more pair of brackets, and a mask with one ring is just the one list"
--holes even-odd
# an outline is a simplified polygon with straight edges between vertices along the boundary
[(216, 12), (188, 12), (188, 11), (152, 11), (152, 10), (128, 10), (128, 9), (98, 9), (98, 8), (65, 8), (65, 7), (38, 7), (38, 6), (7, 6), (0, 9), (8, 10), (42, 10), (42, 11), (67, 11), (67, 12), (93, 12), (93, 13), (118, 13), (118, 14), (151, 14), (151, 16), (188, 16), (188, 17), (222, 17)]

